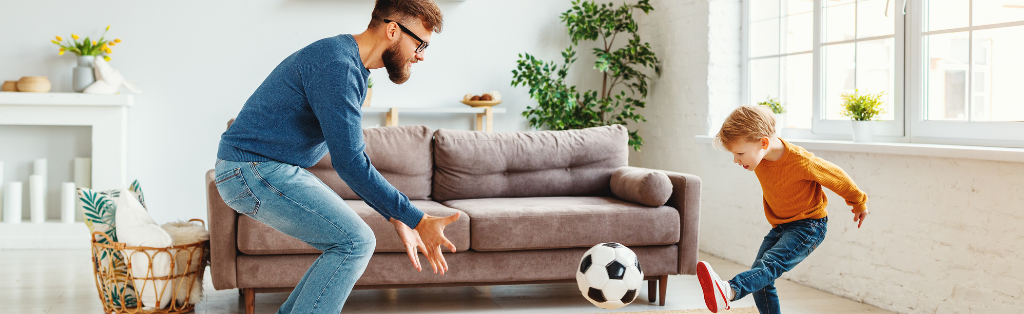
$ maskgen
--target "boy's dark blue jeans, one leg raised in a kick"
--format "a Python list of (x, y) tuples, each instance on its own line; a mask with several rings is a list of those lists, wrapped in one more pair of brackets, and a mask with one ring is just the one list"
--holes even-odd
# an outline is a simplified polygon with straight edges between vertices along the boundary
[(754, 294), (761, 314), (781, 313), (775, 279), (804, 261), (825, 238), (828, 218), (804, 219), (778, 225), (765, 235), (751, 270), (741, 272), (729, 285), (739, 300)]

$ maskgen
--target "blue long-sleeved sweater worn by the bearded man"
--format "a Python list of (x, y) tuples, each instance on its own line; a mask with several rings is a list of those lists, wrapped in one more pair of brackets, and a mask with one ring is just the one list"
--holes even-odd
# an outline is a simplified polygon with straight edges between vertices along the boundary
[(331, 151), (341, 179), (384, 218), (416, 228), (423, 212), (370, 164), (362, 99), (370, 71), (351, 35), (316, 41), (278, 65), (220, 136), (217, 158), (309, 168)]

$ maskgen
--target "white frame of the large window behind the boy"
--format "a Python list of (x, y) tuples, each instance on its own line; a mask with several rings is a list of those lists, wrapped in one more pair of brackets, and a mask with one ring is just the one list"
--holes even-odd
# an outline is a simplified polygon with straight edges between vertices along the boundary
[[(783, 0), (784, 1), (784, 0)], [(849, 121), (837, 121), (824, 119), (824, 68), (822, 66), (824, 55), (822, 47), (855, 43), (867, 40), (877, 40), (888, 36), (872, 37), (864, 39), (849, 40), (836, 43), (822, 43), (821, 38), (824, 32), (822, 16), (824, 9), (822, 1), (814, 0), (814, 35), (813, 35), (813, 82), (812, 95), (812, 120), (811, 129), (783, 128), (779, 130), (783, 137), (803, 139), (830, 139), (849, 140), (852, 134), (852, 127)], [(953, 145), (974, 145), (974, 146), (1004, 146), (1004, 147), (1024, 147), (1024, 123), (1013, 122), (963, 122), (963, 121), (926, 121), (924, 119), (924, 79), (927, 70), (924, 66), (923, 50), (923, 27), (924, 27), (924, 1), (925, 0), (892, 0), (895, 5), (895, 86), (893, 99), (892, 121), (882, 121), (874, 123), (874, 140), (878, 142), (914, 142), (930, 144), (953, 144)], [(973, 10), (973, 1), (969, 5)], [(742, 7), (742, 20), (744, 32), (742, 34), (742, 99), (754, 104), (756, 101), (751, 98), (752, 87), (751, 76), (751, 6), (753, 1), (744, 1)], [(903, 10), (906, 10), (905, 13)], [(779, 2), (779, 16), (782, 15), (784, 6)], [(857, 10), (855, 10), (856, 12)], [(973, 21), (973, 12), (969, 12)], [(996, 25), (986, 25), (981, 27), (972, 26), (969, 28), (943, 30), (928, 32), (926, 34), (942, 34), (963, 32), (967, 30), (980, 31), (1001, 27), (1024, 26), (1024, 21), (1004, 23)], [(856, 32), (856, 31), (855, 31)], [(779, 45), (784, 37), (782, 30), (779, 30)], [(973, 34), (973, 33), (972, 33)], [(970, 53), (974, 53), (973, 38), (969, 42)], [(774, 55), (781, 58), (798, 53), (780, 53)], [(759, 56), (758, 58), (771, 57)], [(856, 57), (856, 54), (855, 56)], [(973, 57), (973, 55), (972, 55)], [(970, 63), (973, 65), (973, 61)], [(970, 69), (969, 69), (970, 70)], [(971, 72), (968, 75), (968, 82), (971, 80)], [(781, 73), (779, 74), (781, 76)], [(1022, 79), (1024, 81), (1024, 79)], [(779, 83), (781, 87), (783, 83)], [(972, 84), (972, 83), (969, 83)], [(969, 85), (969, 90), (971, 85)], [(781, 95), (781, 92), (779, 93)], [(969, 113), (972, 110), (968, 110)]]

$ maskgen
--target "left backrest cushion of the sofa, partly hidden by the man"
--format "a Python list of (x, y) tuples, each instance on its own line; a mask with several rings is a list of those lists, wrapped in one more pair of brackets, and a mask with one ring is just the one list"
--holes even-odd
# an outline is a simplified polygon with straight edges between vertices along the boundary
[[(383, 127), (362, 130), (370, 163), (410, 199), (430, 197), (430, 180), (433, 176), (433, 156), (430, 139), (433, 133), (426, 126)], [(359, 199), (334, 171), (331, 154), (307, 168), (321, 181), (327, 183), (341, 198)]]

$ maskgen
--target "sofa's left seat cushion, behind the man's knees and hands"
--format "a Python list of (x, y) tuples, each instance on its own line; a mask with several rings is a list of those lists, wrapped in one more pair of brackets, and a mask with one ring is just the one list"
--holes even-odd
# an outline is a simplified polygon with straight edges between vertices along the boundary
[[(406, 252), (406, 245), (398, 238), (394, 226), (369, 205), (362, 200), (345, 200), (345, 204), (374, 230), (374, 235), (377, 236), (377, 249), (374, 252)], [(413, 205), (432, 216), (446, 217), (459, 212), (431, 200), (413, 200)], [(458, 252), (469, 250), (469, 216), (463, 213), (459, 220), (449, 224), (444, 228), (444, 236), (455, 244)], [(239, 251), (248, 255), (321, 253), (319, 250), (245, 215), (239, 215)], [(447, 249), (444, 251), (447, 252)]]

